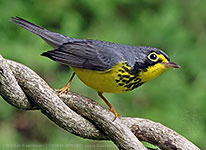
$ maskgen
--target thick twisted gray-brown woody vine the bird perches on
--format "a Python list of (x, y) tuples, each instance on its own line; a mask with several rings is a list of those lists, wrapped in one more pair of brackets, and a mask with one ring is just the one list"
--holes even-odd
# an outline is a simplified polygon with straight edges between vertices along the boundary
[[(61, 97), (28, 67), (0, 55), (0, 95), (11, 105), (40, 109), (66, 131), (94, 140), (112, 140), (119, 149), (146, 149), (147, 141), (163, 150), (199, 150), (175, 131), (150, 120), (119, 117), (97, 102), (69, 92)], [(140, 141), (139, 141), (140, 140)]]

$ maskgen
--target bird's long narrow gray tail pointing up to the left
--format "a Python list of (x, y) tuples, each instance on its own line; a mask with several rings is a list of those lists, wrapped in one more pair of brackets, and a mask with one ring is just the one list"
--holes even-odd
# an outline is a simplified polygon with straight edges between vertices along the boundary
[(74, 40), (73, 38), (46, 30), (45, 28), (42, 28), (22, 18), (19, 17), (11, 17), (11, 18), (12, 18), (12, 22), (40, 36), (54, 48), (57, 48), (64, 43)]

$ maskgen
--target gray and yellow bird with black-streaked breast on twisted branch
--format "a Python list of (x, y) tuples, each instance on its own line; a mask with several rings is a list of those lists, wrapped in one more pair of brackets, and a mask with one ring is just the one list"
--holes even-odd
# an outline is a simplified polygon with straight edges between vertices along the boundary
[(131, 46), (108, 41), (77, 39), (49, 31), (20, 17), (12, 22), (40, 36), (53, 47), (41, 55), (69, 66), (74, 73), (59, 90), (58, 96), (70, 90), (75, 75), (97, 91), (109, 106), (114, 120), (120, 116), (103, 93), (124, 93), (158, 77), (168, 68), (180, 68), (158, 48)]

